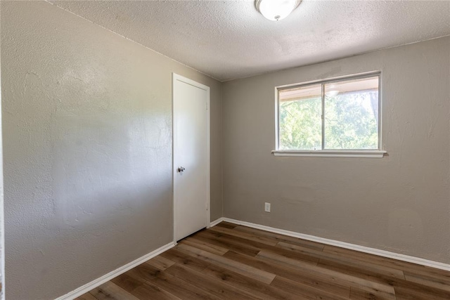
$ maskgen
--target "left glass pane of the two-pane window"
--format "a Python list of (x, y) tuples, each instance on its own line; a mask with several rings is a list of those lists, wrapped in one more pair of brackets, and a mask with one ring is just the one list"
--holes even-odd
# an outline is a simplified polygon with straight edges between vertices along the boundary
[(278, 91), (279, 149), (321, 150), (321, 84)]

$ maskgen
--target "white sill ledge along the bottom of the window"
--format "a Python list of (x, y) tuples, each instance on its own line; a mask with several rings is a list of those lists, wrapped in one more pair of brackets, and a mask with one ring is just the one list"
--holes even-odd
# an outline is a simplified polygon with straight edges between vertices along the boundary
[(382, 158), (385, 150), (273, 150), (274, 156)]

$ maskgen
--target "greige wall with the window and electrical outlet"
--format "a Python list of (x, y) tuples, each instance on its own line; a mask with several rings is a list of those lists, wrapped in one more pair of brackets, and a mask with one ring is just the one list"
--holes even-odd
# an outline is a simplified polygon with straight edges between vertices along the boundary
[[(450, 37), (224, 84), (224, 216), (450, 263)], [(274, 157), (274, 87), (382, 72), (387, 157)], [(264, 213), (271, 202), (271, 213)]]

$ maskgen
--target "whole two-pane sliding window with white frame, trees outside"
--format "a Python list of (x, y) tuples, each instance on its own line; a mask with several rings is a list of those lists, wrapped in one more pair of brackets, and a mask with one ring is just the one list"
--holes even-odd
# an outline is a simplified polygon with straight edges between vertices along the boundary
[(277, 90), (275, 155), (383, 157), (380, 74)]

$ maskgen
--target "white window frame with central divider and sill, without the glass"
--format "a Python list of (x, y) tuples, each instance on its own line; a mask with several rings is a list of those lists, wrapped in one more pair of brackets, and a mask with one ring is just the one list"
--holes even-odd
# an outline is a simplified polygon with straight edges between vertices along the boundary
[[(362, 79), (368, 77), (378, 76), (378, 149), (375, 150), (280, 150), (279, 149), (279, 122), (280, 122), (280, 101), (279, 101), (279, 91), (284, 89), (292, 89), (302, 86), (310, 86), (313, 84), (322, 85), (322, 98), (323, 98), (323, 86), (324, 84), (329, 84), (338, 81), (352, 80), (352, 79)], [(323, 115), (323, 100), (322, 100), (322, 115)], [(321, 79), (316, 81), (303, 82), (301, 84), (288, 84), (284, 86), (275, 87), (275, 145), (276, 150), (272, 151), (274, 156), (298, 156), (298, 157), (368, 157), (368, 158), (381, 158), (385, 155), (386, 151), (383, 150), (383, 137), (382, 137), (382, 127), (383, 127), (383, 110), (382, 110), (382, 93), (381, 93), (381, 72), (366, 72), (360, 74), (352, 74), (342, 77), (333, 77), (329, 79)], [(323, 148), (323, 135), (324, 131), (324, 117), (322, 118), (322, 148)]]

